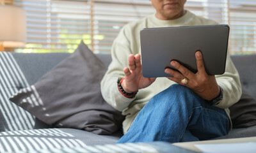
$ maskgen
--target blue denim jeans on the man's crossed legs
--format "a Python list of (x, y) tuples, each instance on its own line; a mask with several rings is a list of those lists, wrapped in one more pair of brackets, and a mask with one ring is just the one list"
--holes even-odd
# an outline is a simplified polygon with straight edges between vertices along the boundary
[(227, 135), (229, 128), (225, 110), (174, 84), (148, 101), (117, 143), (209, 140)]

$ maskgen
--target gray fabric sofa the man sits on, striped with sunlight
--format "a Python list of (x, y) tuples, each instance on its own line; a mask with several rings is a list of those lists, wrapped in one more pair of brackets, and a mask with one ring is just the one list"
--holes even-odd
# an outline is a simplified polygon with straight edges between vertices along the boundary
[[(106, 67), (108, 66), (109, 62), (111, 62), (111, 55), (109, 54), (95, 55), (102, 63), (105, 64)], [(121, 127), (113, 131), (113, 133), (111, 133), (110, 135), (97, 135), (93, 132), (85, 131), (84, 129), (76, 129), (72, 127), (61, 128), (57, 126), (52, 126), (46, 124), (42, 120), (38, 119), (37, 117), (31, 115), (26, 111), (25, 113), (22, 112), (24, 111), (24, 109), (20, 108), (20, 106), (17, 106), (17, 104), (14, 104), (10, 101), (10, 97), (12, 97), (15, 92), (20, 91), (20, 89), (22, 90), (26, 88), (28, 85), (33, 85), (38, 82), (39, 78), (43, 77), (45, 73), (51, 71), (54, 66), (58, 65), (64, 59), (67, 59), (69, 56), (70, 54), (68, 53), (0, 53), (0, 152), (28, 152), (28, 150), (39, 152), (39, 150), (54, 150), (63, 148), (71, 149), (76, 147), (83, 149), (86, 148), (88, 149), (88, 152), (122, 152), (120, 150), (118, 151), (116, 149), (113, 149), (115, 143), (123, 135)], [(231, 57), (240, 74), (243, 94), (245, 95), (244, 98), (247, 100), (249, 99), (250, 103), (248, 103), (248, 105), (243, 105), (243, 103), (247, 103), (247, 101), (240, 102), (242, 103), (242, 105), (239, 106), (243, 107), (242, 112), (240, 112), (239, 108), (237, 108), (236, 106), (234, 106), (234, 109), (230, 109), (231, 112), (235, 114), (232, 119), (234, 119), (237, 124), (227, 136), (221, 136), (220, 138), (216, 139), (256, 136), (256, 55), (232, 55)], [(10, 63), (8, 61), (10, 61)], [(22, 75), (24, 75), (24, 78), (22, 79), (25, 79), (24, 82), (26, 82), (26, 84), (22, 84), (18, 80), (14, 82), (13, 80), (15, 80), (15, 78), (8, 75), (8, 68), (14, 69), (13, 65), (19, 67), (17, 73), (22, 73)], [(7, 81), (4, 81), (4, 79), (6, 79)], [(14, 86), (12, 84), (5, 85), (4, 82), (14, 82)], [(4, 103), (9, 103), (9, 106)], [(9, 112), (3, 110), (4, 105), (6, 105), (5, 107), (9, 109)], [(248, 110), (248, 108), (250, 108), (250, 111)], [(17, 112), (17, 114), (13, 115), (12, 113), (10, 113), (12, 111)], [(26, 116), (29, 120), (24, 123), (25, 126), (21, 126), (22, 128), (17, 128), (17, 126), (21, 125), (20, 123), (18, 125), (18, 121), (22, 120), (19, 113), (22, 113), (22, 117)], [(13, 122), (8, 122), (8, 119), (11, 118), (15, 119), (16, 121), (14, 120)], [(26, 124), (28, 124), (28, 122), (30, 124), (32, 123), (32, 126), (26, 127)], [(250, 123), (248, 124), (248, 122)], [(17, 124), (17, 126), (13, 124)], [(8, 128), (8, 126), (13, 127)], [(112, 147), (109, 147), (109, 145), (111, 145)], [(124, 148), (126, 150), (129, 150), (129, 147)], [(124, 148), (122, 149), (123, 151)]]

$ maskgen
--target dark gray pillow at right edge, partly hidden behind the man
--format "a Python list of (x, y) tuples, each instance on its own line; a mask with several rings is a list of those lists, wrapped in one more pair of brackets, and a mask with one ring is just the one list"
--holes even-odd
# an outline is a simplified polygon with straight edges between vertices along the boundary
[(240, 100), (229, 108), (233, 128), (248, 128), (256, 125), (256, 99), (243, 91)]

